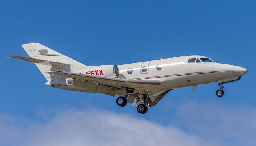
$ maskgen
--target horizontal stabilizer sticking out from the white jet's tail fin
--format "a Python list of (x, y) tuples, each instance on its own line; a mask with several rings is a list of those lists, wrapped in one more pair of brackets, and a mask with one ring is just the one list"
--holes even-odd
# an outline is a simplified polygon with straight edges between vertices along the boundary
[(20, 60), (24, 60), (24, 61), (28, 61), (28, 62), (34, 62), (34, 63), (42, 64), (42, 65), (49, 65), (49, 66), (70, 65), (70, 64), (60, 63), (60, 62), (53, 62), (53, 61), (47, 61), (47, 60), (41, 60), (41, 59), (27, 58), (27, 57), (22, 57), (22, 56), (6, 56), (6, 57), (20, 59)]

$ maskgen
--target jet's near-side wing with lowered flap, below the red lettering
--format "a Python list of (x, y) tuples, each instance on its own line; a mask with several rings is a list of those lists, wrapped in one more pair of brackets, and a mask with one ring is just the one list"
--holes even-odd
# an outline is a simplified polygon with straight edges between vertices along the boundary
[[(95, 90), (99, 90), (104, 94), (112, 95), (112, 96), (116, 95), (118, 90), (122, 87), (136, 89), (136, 88), (145, 88), (147, 86), (152, 86), (152, 85), (157, 86), (161, 84), (159, 80), (126, 80), (126, 79), (120, 79), (120, 78), (91, 76), (86, 74), (78, 74), (78, 73), (64, 72), (64, 71), (51, 71), (47, 73), (55, 74), (58, 76), (65, 76), (67, 78), (72, 78), (73, 79), (72, 84), (76, 86), (92, 88)], [(99, 88), (99, 86), (101, 89)]]

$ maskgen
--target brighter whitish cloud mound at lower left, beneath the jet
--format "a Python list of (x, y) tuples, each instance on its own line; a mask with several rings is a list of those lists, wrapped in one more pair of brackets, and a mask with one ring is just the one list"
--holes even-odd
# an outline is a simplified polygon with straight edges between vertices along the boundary
[[(46, 123), (7, 115), (1, 115), (0, 119), (0, 145), (8, 146), (204, 146), (207, 144), (195, 134), (187, 134), (176, 127), (165, 127), (145, 119), (95, 109), (66, 110)], [(19, 125), (26, 126), (19, 127)]]

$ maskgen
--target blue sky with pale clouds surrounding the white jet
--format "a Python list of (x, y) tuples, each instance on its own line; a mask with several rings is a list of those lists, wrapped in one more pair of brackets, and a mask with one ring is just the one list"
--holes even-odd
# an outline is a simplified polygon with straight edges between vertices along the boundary
[[(141, 115), (132, 105), (118, 107), (114, 97), (45, 86), (34, 64), (0, 57), (0, 145), (15, 145), (13, 138), (20, 145), (103, 141), (118, 145), (106, 133), (119, 138), (132, 135), (134, 144), (140, 143), (136, 138), (143, 131), (139, 138), (150, 137), (149, 145), (159, 143), (152, 136), (155, 133), (161, 135), (161, 144), (253, 146), (255, 4), (247, 0), (2, 1), (2, 56), (27, 56), (21, 44), (38, 42), (89, 66), (204, 55), (242, 66), (248, 74), (225, 84), (221, 99), (215, 95), (217, 83), (199, 85), (195, 92), (192, 87), (179, 88)], [(184, 139), (188, 143), (182, 143)]]

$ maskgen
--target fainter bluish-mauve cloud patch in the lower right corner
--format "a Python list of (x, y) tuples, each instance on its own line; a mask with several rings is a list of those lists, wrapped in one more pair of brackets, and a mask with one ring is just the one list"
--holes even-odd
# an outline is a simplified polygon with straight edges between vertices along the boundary
[(256, 144), (256, 108), (227, 106), (220, 102), (189, 101), (176, 107), (176, 124), (193, 131), (204, 140), (221, 140), (227, 145)]

